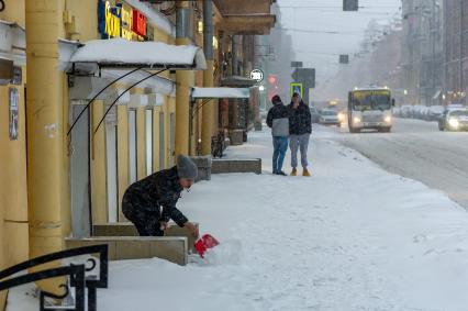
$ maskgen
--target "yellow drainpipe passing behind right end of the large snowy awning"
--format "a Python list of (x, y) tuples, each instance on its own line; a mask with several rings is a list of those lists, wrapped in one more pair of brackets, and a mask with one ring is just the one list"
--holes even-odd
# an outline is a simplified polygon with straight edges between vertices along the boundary
[[(176, 44), (191, 44), (190, 40), (190, 1), (177, 2)], [(176, 73), (176, 149), (175, 155), (189, 154), (190, 141), (190, 87), (193, 86), (193, 71)]]

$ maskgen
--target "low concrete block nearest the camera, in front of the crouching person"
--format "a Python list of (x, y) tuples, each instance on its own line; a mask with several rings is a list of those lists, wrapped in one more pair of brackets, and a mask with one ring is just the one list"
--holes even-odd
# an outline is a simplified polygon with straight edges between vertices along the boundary
[(187, 237), (181, 236), (96, 236), (66, 238), (67, 248), (109, 245), (109, 260), (161, 258), (185, 266), (188, 263)]

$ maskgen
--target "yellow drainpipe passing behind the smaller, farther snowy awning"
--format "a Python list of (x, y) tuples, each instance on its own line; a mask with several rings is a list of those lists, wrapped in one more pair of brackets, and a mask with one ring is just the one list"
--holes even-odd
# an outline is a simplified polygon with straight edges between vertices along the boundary
[[(203, 86), (213, 87), (213, 1), (203, 1), (203, 52), (207, 58), (207, 70), (203, 71)], [(214, 101), (203, 105), (201, 127), (201, 151), (203, 155), (211, 155), (211, 138), (213, 136)]]

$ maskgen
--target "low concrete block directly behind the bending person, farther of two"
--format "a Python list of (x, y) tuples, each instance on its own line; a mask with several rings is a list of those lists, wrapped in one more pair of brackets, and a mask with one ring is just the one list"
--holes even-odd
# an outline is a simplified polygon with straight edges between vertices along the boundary
[[(194, 223), (199, 227), (198, 223)], [(92, 226), (93, 236), (138, 236), (136, 227), (131, 222), (97, 223)], [(194, 253), (194, 243), (197, 238), (186, 227), (180, 227), (174, 222), (169, 222), (165, 236), (187, 237), (188, 251)]]

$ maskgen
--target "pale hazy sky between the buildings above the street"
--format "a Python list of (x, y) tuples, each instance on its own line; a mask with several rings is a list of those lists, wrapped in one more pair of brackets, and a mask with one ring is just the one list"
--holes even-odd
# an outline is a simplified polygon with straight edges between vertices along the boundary
[[(278, 0), (282, 27), (293, 36), (296, 60), (316, 68), (317, 81), (338, 69), (338, 55), (359, 51), (370, 20), (390, 24), (401, 18), (401, 0), (359, 0), (358, 12), (343, 12), (343, 0)], [(298, 31), (288, 31), (298, 30)], [(323, 32), (337, 32), (330, 34)]]

